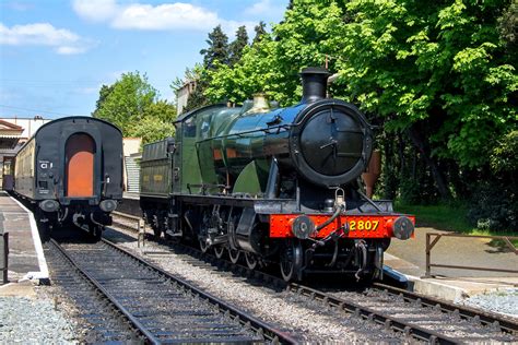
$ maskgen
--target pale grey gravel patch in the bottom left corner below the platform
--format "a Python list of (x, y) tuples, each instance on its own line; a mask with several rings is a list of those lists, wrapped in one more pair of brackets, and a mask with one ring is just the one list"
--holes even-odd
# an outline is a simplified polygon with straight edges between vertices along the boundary
[(48, 296), (0, 297), (0, 344), (78, 344), (76, 333)]

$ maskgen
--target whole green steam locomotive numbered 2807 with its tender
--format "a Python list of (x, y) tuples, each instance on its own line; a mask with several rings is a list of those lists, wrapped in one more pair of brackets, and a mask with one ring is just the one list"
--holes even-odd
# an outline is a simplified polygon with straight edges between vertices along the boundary
[(156, 236), (250, 269), (276, 263), (285, 281), (309, 273), (370, 279), (382, 273), (391, 237), (414, 218), (373, 201), (358, 177), (373, 131), (353, 105), (326, 98), (329, 73), (306, 68), (303, 99), (211, 105), (178, 118), (176, 138), (144, 146), (140, 204)]

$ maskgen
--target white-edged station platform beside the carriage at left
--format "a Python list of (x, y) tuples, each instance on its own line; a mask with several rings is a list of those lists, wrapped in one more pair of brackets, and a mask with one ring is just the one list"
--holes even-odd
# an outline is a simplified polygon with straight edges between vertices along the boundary
[(34, 215), (4, 191), (0, 191), (0, 228), (9, 233), (9, 282), (48, 281), (47, 262)]

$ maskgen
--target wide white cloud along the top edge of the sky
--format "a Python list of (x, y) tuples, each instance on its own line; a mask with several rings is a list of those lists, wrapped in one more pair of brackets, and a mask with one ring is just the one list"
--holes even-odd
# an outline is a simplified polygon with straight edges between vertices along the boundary
[(221, 19), (216, 12), (185, 2), (157, 5), (133, 2), (118, 3), (116, 0), (73, 0), (74, 11), (84, 19), (106, 22), (118, 29), (200, 29), (209, 31), (221, 24), (233, 35), (240, 25), (254, 28), (255, 23)]

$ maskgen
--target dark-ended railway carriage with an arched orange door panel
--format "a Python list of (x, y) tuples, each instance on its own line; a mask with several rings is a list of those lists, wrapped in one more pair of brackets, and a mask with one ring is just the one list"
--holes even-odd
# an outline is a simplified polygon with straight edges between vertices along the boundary
[(76, 225), (99, 238), (122, 199), (122, 133), (99, 119), (67, 117), (42, 126), (16, 154), (14, 193), (45, 235)]

